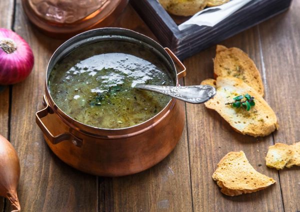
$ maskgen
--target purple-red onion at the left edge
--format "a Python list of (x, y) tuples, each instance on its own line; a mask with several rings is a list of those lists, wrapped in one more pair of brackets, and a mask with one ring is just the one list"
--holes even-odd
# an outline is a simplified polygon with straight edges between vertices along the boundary
[(24, 80), (33, 67), (33, 53), (17, 33), (0, 28), (0, 85)]

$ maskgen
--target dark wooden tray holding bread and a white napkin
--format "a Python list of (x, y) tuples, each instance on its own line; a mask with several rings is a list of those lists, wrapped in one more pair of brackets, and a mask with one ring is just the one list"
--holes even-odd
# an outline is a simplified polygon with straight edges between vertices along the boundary
[(213, 27), (192, 25), (179, 30), (157, 0), (130, 0), (158, 40), (180, 58), (189, 57), (286, 10), (291, 0), (252, 0)]

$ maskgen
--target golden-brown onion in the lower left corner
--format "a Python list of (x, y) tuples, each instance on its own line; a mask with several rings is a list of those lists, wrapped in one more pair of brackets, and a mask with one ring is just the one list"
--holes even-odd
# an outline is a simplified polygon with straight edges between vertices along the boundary
[(12, 212), (20, 212), (16, 187), (20, 177), (20, 164), (12, 145), (0, 135), (0, 196), (7, 198)]

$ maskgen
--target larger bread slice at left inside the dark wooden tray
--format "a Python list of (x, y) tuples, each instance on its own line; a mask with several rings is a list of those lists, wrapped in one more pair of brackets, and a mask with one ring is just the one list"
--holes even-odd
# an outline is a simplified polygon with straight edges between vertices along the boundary
[(207, 0), (159, 0), (159, 3), (171, 14), (190, 16), (202, 10)]

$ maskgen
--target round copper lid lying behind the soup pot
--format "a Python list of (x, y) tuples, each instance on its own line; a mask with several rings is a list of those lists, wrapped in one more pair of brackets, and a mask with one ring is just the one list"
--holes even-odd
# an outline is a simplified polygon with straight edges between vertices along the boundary
[(22, 0), (29, 20), (45, 34), (67, 38), (111, 24), (128, 0)]

